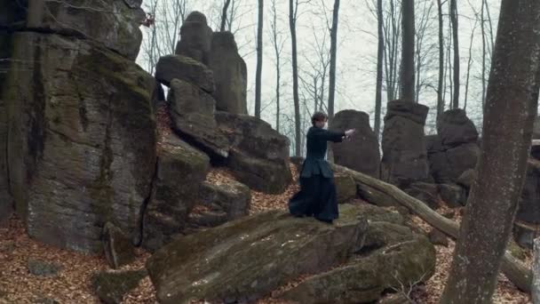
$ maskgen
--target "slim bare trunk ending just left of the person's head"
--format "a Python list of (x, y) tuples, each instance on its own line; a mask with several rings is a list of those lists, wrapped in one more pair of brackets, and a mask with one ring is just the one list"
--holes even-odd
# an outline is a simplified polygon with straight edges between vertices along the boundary
[(300, 100), (298, 97), (298, 58), (297, 58), (297, 29), (296, 29), (296, 9), (295, 1), (289, 0), (289, 27), (290, 27), (290, 42), (292, 44), (292, 96), (294, 99), (294, 125), (295, 125), (295, 154), (302, 156), (301, 132), (300, 132)]

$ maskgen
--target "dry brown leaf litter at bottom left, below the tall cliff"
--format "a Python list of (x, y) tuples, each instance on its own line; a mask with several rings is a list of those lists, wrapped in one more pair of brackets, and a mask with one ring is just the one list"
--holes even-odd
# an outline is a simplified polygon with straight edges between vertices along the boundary
[[(142, 251), (138, 253), (139, 259), (121, 270), (143, 268), (149, 255)], [(54, 263), (62, 269), (56, 277), (34, 276), (28, 272), (28, 260)], [(0, 265), (0, 295), (4, 295), (0, 298), (17, 304), (34, 303), (44, 298), (60, 303), (99, 303), (91, 291), (90, 278), (96, 272), (109, 269), (103, 257), (36, 242), (28, 237), (24, 224), (15, 217), (0, 227)], [(142, 300), (127, 300), (126, 303), (155, 303), (155, 292), (146, 287), (148, 278), (146, 281), (141, 283), (142, 289), (130, 294), (130, 299), (139, 297)]]

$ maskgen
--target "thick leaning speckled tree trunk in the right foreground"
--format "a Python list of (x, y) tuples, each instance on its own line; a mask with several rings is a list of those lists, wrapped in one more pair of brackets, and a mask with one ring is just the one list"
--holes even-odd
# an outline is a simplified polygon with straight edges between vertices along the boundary
[[(525, 179), (538, 103), (540, 2), (503, 0), (478, 179), (441, 302), (491, 303)], [(494, 225), (496, 223), (496, 225)]]

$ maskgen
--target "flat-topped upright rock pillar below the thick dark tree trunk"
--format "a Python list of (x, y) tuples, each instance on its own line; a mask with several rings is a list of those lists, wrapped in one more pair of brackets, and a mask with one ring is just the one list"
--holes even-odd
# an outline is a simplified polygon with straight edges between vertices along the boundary
[(424, 135), (429, 108), (406, 100), (390, 101), (387, 108), (381, 180), (400, 188), (431, 180)]

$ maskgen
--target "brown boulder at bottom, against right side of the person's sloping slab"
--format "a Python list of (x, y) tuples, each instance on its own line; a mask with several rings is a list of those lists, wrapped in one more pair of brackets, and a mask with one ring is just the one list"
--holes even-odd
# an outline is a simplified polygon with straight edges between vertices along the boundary
[(433, 276), (433, 245), (409, 228), (371, 222), (364, 246), (371, 248), (369, 254), (359, 254), (343, 266), (308, 277), (281, 298), (293, 303), (373, 303), (385, 290), (425, 282)]

